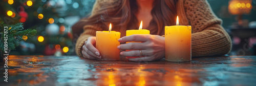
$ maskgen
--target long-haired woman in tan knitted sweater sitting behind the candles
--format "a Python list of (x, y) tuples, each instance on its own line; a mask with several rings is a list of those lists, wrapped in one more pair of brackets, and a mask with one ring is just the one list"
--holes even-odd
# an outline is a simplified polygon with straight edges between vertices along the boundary
[[(172, 26), (179, 15), (180, 25), (192, 26), (191, 52), (193, 57), (224, 55), (231, 49), (231, 39), (221, 26), (222, 20), (212, 12), (206, 0), (97, 0), (91, 16), (81, 19), (73, 28), (74, 37), (83, 32), (76, 42), (78, 56), (101, 58), (95, 48), (95, 32), (112, 30), (121, 32), (120, 42), (141, 41), (122, 44), (117, 48), (122, 56), (142, 56), (127, 58), (131, 61), (152, 61), (164, 57), (164, 26)], [(125, 36), (126, 30), (138, 29), (143, 20), (142, 29), (151, 31), (151, 35)]]

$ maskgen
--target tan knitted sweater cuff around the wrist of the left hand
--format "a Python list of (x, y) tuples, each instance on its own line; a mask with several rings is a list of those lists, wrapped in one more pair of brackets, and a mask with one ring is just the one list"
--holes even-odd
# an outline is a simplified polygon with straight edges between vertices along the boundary
[(86, 41), (88, 39), (88, 37), (90, 37), (92, 35), (83, 35), (83, 36), (79, 36), (77, 41), (76, 41), (76, 54), (79, 57), (83, 57), (82, 53), (81, 53), (81, 48), (84, 45), (84, 41)]

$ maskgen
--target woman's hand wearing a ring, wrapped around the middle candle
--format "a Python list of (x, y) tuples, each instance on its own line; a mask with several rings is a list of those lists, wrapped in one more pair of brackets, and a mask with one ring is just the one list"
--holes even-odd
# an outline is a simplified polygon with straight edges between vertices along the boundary
[[(122, 51), (120, 55), (122, 56), (141, 56), (140, 50), (143, 57), (138, 58), (128, 58), (131, 61), (152, 61), (161, 59), (165, 56), (164, 51), (164, 37), (159, 35), (131, 35), (124, 36), (118, 39), (119, 42), (129, 42), (127, 44), (122, 44), (117, 48), (119, 50), (132, 50), (132, 51)], [(131, 42), (138, 41), (138, 42)]]

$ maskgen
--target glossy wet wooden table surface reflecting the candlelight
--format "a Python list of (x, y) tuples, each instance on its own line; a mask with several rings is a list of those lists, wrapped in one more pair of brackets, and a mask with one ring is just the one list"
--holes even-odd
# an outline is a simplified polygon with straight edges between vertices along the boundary
[(8, 57), (0, 85), (255, 85), (256, 56), (199, 57), (190, 62), (98, 61), (77, 56)]

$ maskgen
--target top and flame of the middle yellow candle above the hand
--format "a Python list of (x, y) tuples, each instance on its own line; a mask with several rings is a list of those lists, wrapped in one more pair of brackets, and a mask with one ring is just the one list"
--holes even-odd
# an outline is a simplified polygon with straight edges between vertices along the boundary
[(130, 36), (134, 34), (150, 34), (150, 31), (146, 29), (142, 29), (142, 20), (141, 20), (139, 30), (126, 30), (126, 36)]

